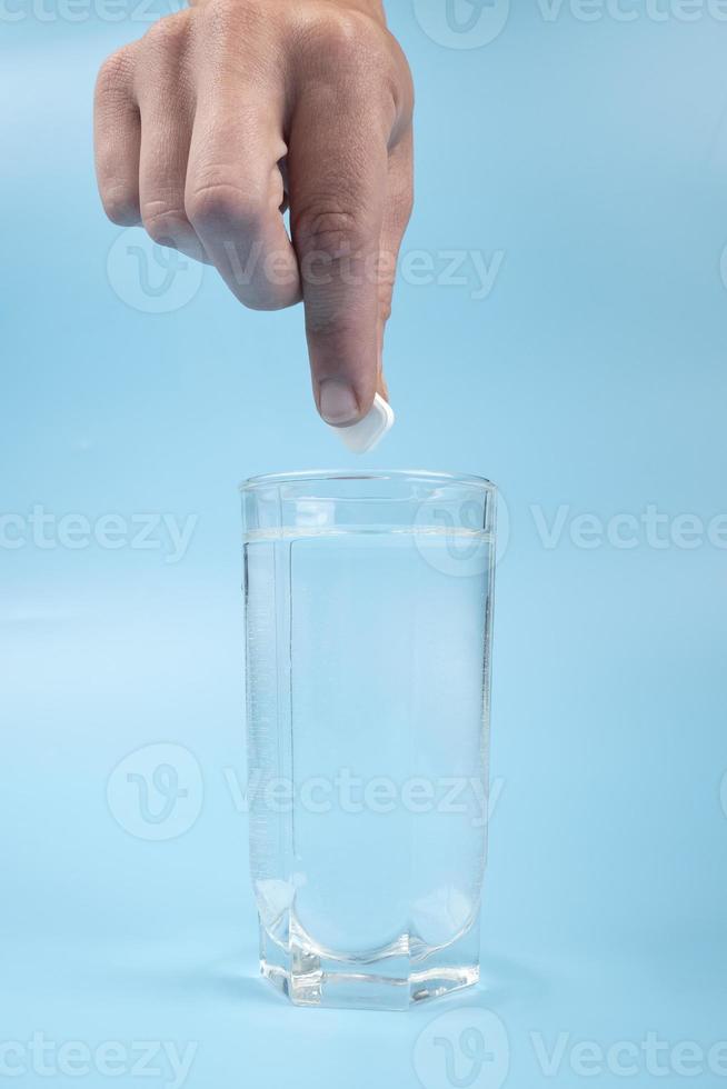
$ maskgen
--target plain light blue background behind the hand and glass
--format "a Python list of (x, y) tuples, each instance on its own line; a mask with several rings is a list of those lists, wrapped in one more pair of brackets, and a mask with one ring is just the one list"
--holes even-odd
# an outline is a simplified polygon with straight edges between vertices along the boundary
[[(410, 0), (390, 12), (418, 89), (405, 251), (504, 257), (485, 299), (471, 267), (464, 284), (400, 282), (398, 422), (366, 463), (488, 476), (509, 532), (485, 986), (387, 1015), (296, 1010), (258, 981), (229, 787), (245, 773), (236, 484), (353, 463), (315, 413), (301, 312), (247, 312), (189, 267), (162, 293), (172, 308), (149, 312), (128, 240), (111, 250), (90, 129), (100, 61), (146, 24), (3, 10), (22, 18), (3, 18), (0, 64), (1, 510), (196, 523), (179, 562), (163, 539), (0, 549), (2, 1041), (192, 1042), (190, 1089), (447, 1089), (444, 1049), (422, 1063), (417, 1038), (488, 1009), (507, 1047), (469, 1083), (532, 1089), (629, 1080), (608, 1057), (585, 1078), (578, 1041), (727, 1038), (727, 551), (668, 536), (680, 514), (727, 511), (727, 23), (666, 0), (661, 20), (639, 6), (628, 22), (548, 20), (532, 0), (455, 49)], [(666, 547), (644, 529), (633, 548), (581, 547), (578, 516), (649, 504)], [(546, 547), (539, 518), (559, 508)], [(193, 755), (203, 791), (185, 835), (149, 841), (107, 786), (158, 742)], [(557, 1078), (532, 1033), (548, 1050), (566, 1035)], [(641, 1056), (630, 1082), (725, 1083), (665, 1055), (663, 1076)], [(16, 1083), (48, 1083), (23, 1061)]]

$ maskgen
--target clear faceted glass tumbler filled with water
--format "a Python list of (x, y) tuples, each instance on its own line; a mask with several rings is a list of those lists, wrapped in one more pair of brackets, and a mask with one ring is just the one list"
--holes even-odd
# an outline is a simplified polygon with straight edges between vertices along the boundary
[(242, 486), (261, 970), (404, 1009), (479, 978), (496, 489), (438, 472)]

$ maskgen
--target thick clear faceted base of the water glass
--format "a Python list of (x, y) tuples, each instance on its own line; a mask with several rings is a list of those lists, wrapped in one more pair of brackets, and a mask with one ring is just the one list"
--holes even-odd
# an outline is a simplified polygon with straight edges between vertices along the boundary
[[(302, 937), (302, 936), (301, 936)], [(260, 928), (260, 971), (296, 1006), (406, 1010), (479, 981), (479, 925), (448, 946), (412, 952), (409, 936), (376, 959), (338, 959)]]

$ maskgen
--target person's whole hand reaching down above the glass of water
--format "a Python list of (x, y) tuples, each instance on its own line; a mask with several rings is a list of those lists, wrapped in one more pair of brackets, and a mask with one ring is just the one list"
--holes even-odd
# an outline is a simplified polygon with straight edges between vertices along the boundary
[(338, 426), (386, 396), (412, 106), (378, 0), (197, 0), (98, 78), (109, 218), (216, 266), (245, 306), (302, 299), (316, 403)]

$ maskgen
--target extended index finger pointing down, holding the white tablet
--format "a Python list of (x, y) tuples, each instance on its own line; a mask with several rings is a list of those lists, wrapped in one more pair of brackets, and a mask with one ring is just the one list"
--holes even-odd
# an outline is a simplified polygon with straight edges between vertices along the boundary
[(371, 408), (378, 377), (378, 261), (389, 126), (384, 110), (331, 86), (299, 100), (289, 141), (292, 241), (318, 411), (346, 426)]

